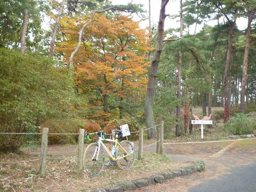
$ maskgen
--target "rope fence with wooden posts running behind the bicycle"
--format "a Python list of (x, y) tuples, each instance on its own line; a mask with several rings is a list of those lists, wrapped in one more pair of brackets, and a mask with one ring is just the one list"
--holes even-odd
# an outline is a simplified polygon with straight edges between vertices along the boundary
[[(160, 131), (158, 131), (159, 129), (157, 129), (157, 141), (154, 142), (154, 143), (151, 143), (148, 146), (143, 146), (143, 132), (147, 131), (149, 129), (153, 129), (154, 127), (157, 127), (159, 125), (161, 125), (161, 127), (160, 127), (161, 129), (160, 129)], [(156, 143), (158, 143), (156, 153), (163, 154), (163, 121), (162, 121), (161, 124), (155, 125), (153, 127), (149, 127), (148, 129), (143, 130), (143, 128), (141, 127), (139, 131), (134, 131), (134, 132), (130, 132), (130, 133), (139, 133), (139, 135), (140, 135), (140, 137), (139, 137), (139, 148), (134, 149), (134, 150), (139, 150), (139, 154), (138, 154), (139, 158), (142, 158), (143, 148), (155, 145)], [(84, 148), (84, 129), (80, 129), (79, 133), (49, 133), (49, 129), (44, 128), (43, 133), (0, 133), (0, 134), (27, 134), (27, 135), (42, 134), (43, 135), (42, 136), (42, 145), (41, 145), (41, 158), (28, 160), (28, 161), (20, 161), (20, 162), (0, 162), (0, 164), (14, 164), (14, 163), (26, 163), (26, 162), (41, 161), (39, 172), (41, 174), (45, 174), (46, 159), (68, 159), (68, 158), (77, 158), (78, 157), (78, 160), (77, 160), (78, 169), (82, 169), (82, 167), (83, 167), (82, 157), (83, 157), (83, 148)], [(78, 137), (78, 156), (63, 157), (63, 158), (46, 158), (47, 145), (48, 145), (48, 135), (49, 134), (79, 135), (79, 137)], [(111, 135), (111, 134), (107, 134), (107, 135)]]

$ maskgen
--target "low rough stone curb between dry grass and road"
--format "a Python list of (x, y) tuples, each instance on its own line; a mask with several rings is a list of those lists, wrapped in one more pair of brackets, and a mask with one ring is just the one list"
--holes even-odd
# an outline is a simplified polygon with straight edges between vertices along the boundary
[(162, 183), (164, 180), (174, 179), (175, 177), (188, 175), (196, 171), (201, 172), (204, 169), (205, 164), (203, 161), (201, 161), (196, 163), (195, 166), (185, 167), (173, 172), (164, 172), (157, 175), (151, 175), (146, 178), (119, 183), (118, 185), (110, 186), (107, 188), (95, 189), (92, 192), (122, 192), (126, 190), (133, 190), (135, 188), (146, 187), (148, 185), (155, 185), (155, 183)]

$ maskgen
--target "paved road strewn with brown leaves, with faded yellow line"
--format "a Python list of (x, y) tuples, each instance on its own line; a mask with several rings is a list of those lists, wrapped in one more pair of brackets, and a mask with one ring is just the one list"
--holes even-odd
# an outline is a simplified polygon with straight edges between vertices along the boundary
[(138, 191), (241, 192), (256, 191), (256, 139), (218, 143), (165, 145), (177, 161), (204, 161), (206, 170)]

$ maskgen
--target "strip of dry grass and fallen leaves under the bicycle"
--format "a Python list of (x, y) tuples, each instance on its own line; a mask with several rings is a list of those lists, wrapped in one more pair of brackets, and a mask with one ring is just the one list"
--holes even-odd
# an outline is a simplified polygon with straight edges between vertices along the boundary
[[(47, 156), (47, 158), (59, 157), (63, 156)], [(1, 154), (0, 162), (19, 162), (38, 158), (39, 155), (10, 153)], [(0, 191), (90, 191), (165, 171), (178, 170), (193, 164), (175, 162), (165, 155), (145, 153), (143, 159), (135, 159), (130, 170), (123, 171), (117, 165), (107, 166), (98, 177), (90, 178), (84, 171), (77, 169), (77, 158), (47, 160), (46, 175), (39, 174), (39, 163), (34, 161), (0, 164)]]

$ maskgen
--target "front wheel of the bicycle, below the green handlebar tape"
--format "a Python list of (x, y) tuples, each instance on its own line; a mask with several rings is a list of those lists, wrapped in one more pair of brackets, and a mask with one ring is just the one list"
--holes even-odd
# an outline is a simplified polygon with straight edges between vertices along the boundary
[(105, 155), (98, 143), (91, 143), (84, 151), (84, 170), (90, 177), (100, 174), (104, 167)]

